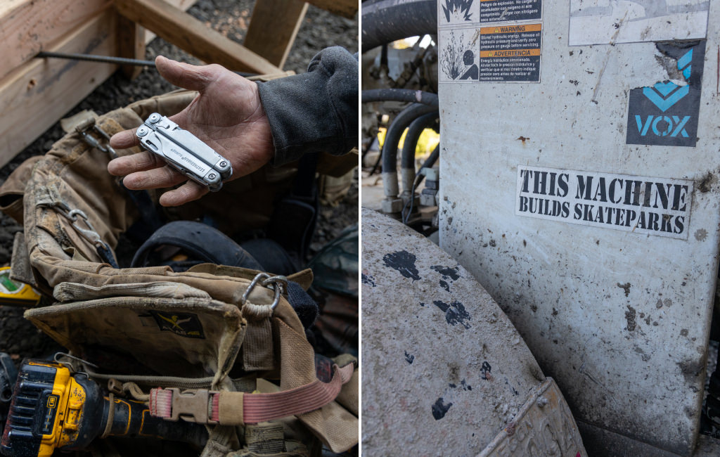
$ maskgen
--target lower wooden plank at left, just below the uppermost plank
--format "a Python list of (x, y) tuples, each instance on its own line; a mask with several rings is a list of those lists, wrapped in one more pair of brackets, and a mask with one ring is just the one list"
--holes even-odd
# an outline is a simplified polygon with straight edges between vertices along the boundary
[[(106, 9), (48, 50), (112, 55), (117, 50), (116, 19), (117, 14)], [(116, 69), (107, 63), (35, 59), (0, 80), (0, 166)]]

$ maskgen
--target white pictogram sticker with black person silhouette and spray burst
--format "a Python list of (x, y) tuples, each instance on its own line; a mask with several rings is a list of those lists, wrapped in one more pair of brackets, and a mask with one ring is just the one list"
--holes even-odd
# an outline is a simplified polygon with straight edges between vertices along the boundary
[(438, 30), (440, 82), (477, 83), (480, 30)]

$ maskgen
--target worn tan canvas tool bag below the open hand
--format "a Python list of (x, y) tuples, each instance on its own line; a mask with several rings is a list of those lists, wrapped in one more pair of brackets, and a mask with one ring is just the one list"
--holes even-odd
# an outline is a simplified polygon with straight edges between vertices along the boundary
[[(174, 114), (193, 97), (186, 91), (153, 97), (96, 122), (112, 135), (137, 127), (151, 112)], [(274, 380), (282, 392), (314, 383), (314, 353), (299, 318), (274, 283), (251, 287), (258, 272), (205, 264), (176, 273), (169, 267), (112, 268), (102, 263), (91, 235), (114, 249), (120, 234), (138, 219), (130, 198), (107, 173), (109, 159), (76, 133), (68, 134), (0, 188), (0, 200), (9, 196), (8, 211), (24, 222), (23, 256), (30, 266), (24, 276), (32, 275), (37, 289), (53, 302), (28, 310), (27, 319), (73, 356), (94, 364), (88, 371), (98, 381), (114, 377), (141, 386), (144, 382), (148, 390), (179, 386), (217, 392), (256, 387), (257, 379)], [(292, 166), (262, 168), (169, 216), (192, 219), (210, 212), (227, 231), (262, 227), (272, 214), (274, 196), (289, 189), (293, 174)], [(22, 192), (20, 178), (27, 181)], [(17, 202), (22, 202), (22, 212)], [(238, 211), (228, 215), (228, 207)], [(73, 220), (68, 217), (73, 211), (84, 217)], [(307, 287), (312, 273), (289, 279)], [(235, 372), (240, 379), (233, 378)], [(348, 384), (336, 394), (338, 402), (347, 392), (356, 397), (356, 372), (346, 368), (341, 378)], [(341, 452), (358, 442), (358, 420), (356, 403), (348, 410), (338, 402), (297, 417), (330, 449)], [(233, 410), (240, 403), (224, 405), (225, 416), (236, 420), (229, 426), (209, 422), (217, 432), (211, 433), (204, 455), (212, 455), (210, 448), (237, 450), (233, 430), (243, 420)]]

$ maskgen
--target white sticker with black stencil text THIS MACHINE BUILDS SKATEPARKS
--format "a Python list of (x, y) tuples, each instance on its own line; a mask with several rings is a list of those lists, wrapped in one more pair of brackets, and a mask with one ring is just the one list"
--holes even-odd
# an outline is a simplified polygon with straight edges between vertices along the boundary
[(515, 214), (688, 239), (693, 181), (518, 166)]

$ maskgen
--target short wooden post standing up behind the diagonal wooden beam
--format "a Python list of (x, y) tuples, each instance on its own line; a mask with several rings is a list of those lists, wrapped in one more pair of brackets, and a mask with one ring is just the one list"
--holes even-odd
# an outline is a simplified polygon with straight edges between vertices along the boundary
[(302, 0), (256, 1), (243, 46), (283, 68), (306, 11)]

